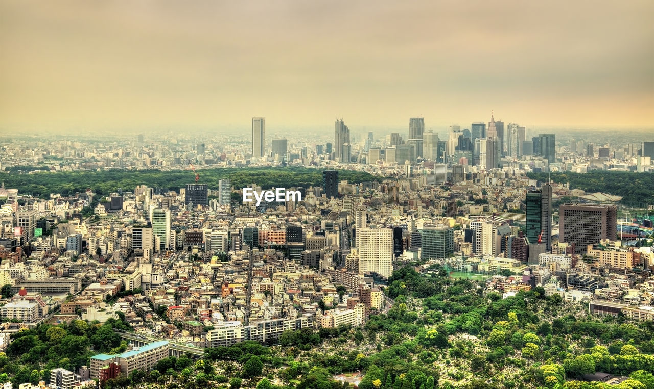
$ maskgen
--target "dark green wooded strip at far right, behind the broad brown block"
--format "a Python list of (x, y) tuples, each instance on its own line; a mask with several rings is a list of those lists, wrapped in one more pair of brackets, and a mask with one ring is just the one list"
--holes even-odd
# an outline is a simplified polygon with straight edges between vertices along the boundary
[(539, 181), (545, 181), (549, 176), (549, 179), (554, 182), (569, 182), (570, 189), (621, 196), (624, 202), (654, 204), (654, 174), (591, 170), (587, 173), (528, 173), (527, 176)]

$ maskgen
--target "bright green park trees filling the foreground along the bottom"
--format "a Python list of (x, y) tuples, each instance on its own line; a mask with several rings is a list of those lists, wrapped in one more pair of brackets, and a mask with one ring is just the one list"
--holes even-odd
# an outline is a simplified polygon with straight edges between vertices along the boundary
[[(653, 322), (593, 316), (542, 287), (502, 298), (470, 279), (453, 279), (433, 266), (413, 266), (388, 280), (394, 305), (360, 328), (340, 326), (287, 331), (277, 345), (254, 341), (205, 349), (205, 356), (161, 360), (105, 388), (360, 389), (608, 388), (583, 382), (596, 372), (630, 377), (611, 388), (654, 387)], [(135, 291), (131, 291), (135, 292)], [(126, 343), (105, 324), (75, 320), (12, 335), (0, 354), (0, 379), (35, 382), (53, 367), (77, 369), (97, 352), (116, 353)]]

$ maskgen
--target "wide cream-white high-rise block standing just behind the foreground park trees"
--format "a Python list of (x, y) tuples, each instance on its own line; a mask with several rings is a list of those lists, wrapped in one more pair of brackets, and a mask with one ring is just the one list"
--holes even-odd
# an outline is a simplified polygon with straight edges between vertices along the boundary
[(390, 277), (393, 272), (393, 230), (361, 228), (356, 234), (359, 243), (359, 274), (377, 273), (382, 277)]

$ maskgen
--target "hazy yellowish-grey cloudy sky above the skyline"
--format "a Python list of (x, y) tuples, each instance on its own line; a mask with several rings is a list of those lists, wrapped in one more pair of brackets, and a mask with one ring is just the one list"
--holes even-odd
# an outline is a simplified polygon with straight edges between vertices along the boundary
[(653, 127), (654, 1), (0, 0), (0, 133)]

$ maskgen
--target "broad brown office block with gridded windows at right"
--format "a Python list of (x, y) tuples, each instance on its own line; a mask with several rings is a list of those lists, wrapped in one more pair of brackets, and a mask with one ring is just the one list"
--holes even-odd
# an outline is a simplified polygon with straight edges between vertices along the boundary
[(559, 207), (559, 241), (574, 244), (576, 254), (588, 245), (615, 240), (617, 208), (604, 204), (564, 204)]

